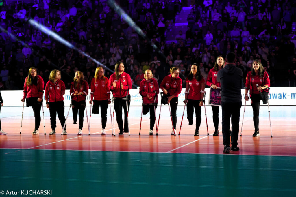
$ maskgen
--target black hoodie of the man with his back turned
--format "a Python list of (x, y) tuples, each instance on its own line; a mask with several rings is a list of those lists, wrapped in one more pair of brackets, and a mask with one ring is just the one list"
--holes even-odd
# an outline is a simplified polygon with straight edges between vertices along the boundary
[(242, 69), (233, 64), (226, 64), (217, 74), (217, 82), (221, 84), (222, 102), (239, 102), (242, 100), (241, 89), (244, 89)]

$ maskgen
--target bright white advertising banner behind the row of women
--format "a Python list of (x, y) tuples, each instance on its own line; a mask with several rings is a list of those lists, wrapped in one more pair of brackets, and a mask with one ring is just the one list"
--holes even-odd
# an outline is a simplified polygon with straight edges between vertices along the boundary
[[(206, 88), (206, 105), (208, 105), (209, 100), (209, 91), (210, 88)], [(89, 90), (89, 92), (91, 92)], [(242, 104), (244, 105), (244, 92), (242, 89)], [(1, 95), (3, 98), (4, 106), (22, 106), (21, 99), (23, 97), (22, 90), (3, 90), (1, 91)], [(139, 89), (131, 89), (131, 105), (132, 106), (141, 106), (142, 105), (142, 97), (139, 94)], [(112, 95), (111, 95), (112, 97)], [(179, 103), (178, 105), (184, 105), (183, 100), (185, 99), (185, 88), (182, 89), (181, 94), (179, 95)], [(86, 97), (87, 105), (89, 104), (90, 95)], [(66, 90), (64, 95), (65, 106), (69, 106), (71, 102), (70, 90)], [(45, 106), (45, 100), (43, 101)], [(158, 105), (160, 105), (160, 94), (158, 95)], [(250, 100), (247, 101), (246, 105), (251, 105)], [(264, 105), (262, 102), (260, 105)], [(271, 87), (270, 95), (269, 95), (269, 105), (296, 105), (296, 87)]]

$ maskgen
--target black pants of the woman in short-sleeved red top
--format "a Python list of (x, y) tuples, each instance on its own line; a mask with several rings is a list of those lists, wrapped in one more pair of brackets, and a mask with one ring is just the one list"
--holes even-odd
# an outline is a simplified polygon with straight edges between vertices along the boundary
[(187, 102), (187, 119), (189, 121), (193, 120), (193, 108), (195, 111), (195, 130), (198, 130), (200, 128), (200, 123), (202, 121), (201, 113), (202, 113), (202, 107), (200, 106), (200, 100), (193, 100), (188, 99)]

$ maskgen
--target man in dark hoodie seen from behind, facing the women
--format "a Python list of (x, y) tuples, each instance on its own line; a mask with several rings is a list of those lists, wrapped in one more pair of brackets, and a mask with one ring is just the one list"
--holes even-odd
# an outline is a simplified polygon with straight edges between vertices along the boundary
[(230, 151), (229, 128), (230, 116), (232, 124), (231, 151), (238, 151), (237, 139), (239, 135), (239, 115), (242, 106), (241, 89), (244, 89), (242, 69), (236, 67), (235, 53), (226, 55), (226, 66), (220, 69), (217, 74), (217, 81), (221, 84), (222, 101), (222, 133), (223, 133), (223, 153)]

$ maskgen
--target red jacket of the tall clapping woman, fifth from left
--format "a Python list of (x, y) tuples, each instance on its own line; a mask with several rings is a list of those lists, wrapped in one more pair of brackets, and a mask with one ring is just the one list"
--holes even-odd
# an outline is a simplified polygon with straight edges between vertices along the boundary
[[(116, 87), (115, 88), (113, 87), (113, 82), (116, 83)], [(121, 83), (123, 84), (123, 89), (120, 89)], [(116, 97), (116, 98), (126, 97), (126, 91), (128, 89), (131, 89), (132, 88), (131, 87), (132, 86), (131, 85), (131, 76), (129, 74), (127, 74), (126, 72), (123, 72), (120, 75), (119, 80), (117, 80), (115, 73), (113, 73), (110, 76), (109, 85), (108, 86), (110, 87), (110, 90), (113, 92), (112, 93), (113, 94), (113, 97)]]

